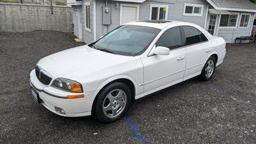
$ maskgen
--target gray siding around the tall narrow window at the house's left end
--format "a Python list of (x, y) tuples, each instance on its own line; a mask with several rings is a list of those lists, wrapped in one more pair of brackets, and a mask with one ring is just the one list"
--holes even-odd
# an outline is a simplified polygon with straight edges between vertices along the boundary
[[(90, 14), (91, 14), (91, 31), (86, 30), (86, 24), (85, 24), (85, 3), (90, 2)], [(93, 42), (93, 0), (83, 0), (82, 3), (82, 29), (83, 29), (83, 42), (86, 44), (90, 44)]]

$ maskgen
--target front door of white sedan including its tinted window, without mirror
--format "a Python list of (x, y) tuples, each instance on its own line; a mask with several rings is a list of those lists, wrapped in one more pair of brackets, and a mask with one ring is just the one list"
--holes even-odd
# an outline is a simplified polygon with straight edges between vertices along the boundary
[(156, 42), (157, 46), (168, 47), (170, 54), (141, 58), (144, 66), (145, 95), (180, 83), (184, 77), (186, 48), (182, 47), (180, 28), (176, 27), (165, 31)]

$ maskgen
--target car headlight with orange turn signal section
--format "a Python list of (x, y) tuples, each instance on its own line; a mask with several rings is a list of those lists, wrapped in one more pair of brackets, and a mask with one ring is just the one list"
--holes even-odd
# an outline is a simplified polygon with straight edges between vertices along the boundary
[(80, 83), (70, 79), (58, 78), (52, 82), (52, 87), (65, 90), (67, 92), (82, 93), (83, 87)]

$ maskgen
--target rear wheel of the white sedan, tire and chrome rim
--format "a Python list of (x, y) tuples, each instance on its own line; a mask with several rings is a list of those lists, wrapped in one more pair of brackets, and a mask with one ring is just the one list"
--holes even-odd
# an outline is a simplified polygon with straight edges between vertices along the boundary
[(213, 56), (211, 56), (205, 63), (204, 68), (201, 72), (201, 78), (203, 81), (209, 81), (213, 74), (214, 70), (216, 68), (216, 60)]

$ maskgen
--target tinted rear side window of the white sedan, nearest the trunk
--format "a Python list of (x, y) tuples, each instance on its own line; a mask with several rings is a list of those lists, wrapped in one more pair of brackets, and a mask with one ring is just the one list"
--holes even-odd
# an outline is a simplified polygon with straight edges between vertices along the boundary
[(191, 26), (183, 26), (183, 29), (186, 37), (186, 45), (208, 41), (206, 36), (196, 28)]

